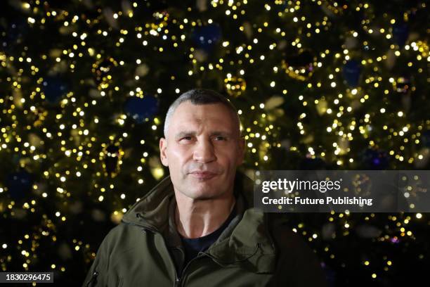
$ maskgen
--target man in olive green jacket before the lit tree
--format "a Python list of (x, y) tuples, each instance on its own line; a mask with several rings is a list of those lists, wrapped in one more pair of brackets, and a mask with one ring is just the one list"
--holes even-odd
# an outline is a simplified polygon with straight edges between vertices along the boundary
[(170, 176), (100, 245), (84, 286), (325, 286), (282, 217), (252, 208), (234, 106), (195, 89), (171, 105), (159, 141)]

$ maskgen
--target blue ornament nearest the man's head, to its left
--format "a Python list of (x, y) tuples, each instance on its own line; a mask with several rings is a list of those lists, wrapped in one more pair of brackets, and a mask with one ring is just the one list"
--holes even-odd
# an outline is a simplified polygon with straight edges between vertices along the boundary
[(138, 123), (145, 122), (145, 119), (153, 117), (158, 112), (158, 100), (154, 96), (138, 98), (130, 97), (126, 100), (125, 111), (129, 117), (133, 117)]

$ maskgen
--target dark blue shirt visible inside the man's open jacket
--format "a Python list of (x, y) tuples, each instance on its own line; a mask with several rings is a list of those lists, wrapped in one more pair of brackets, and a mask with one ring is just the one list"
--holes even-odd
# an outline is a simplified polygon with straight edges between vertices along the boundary
[(199, 238), (184, 238), (181, 236), (181, 241), (183, 248), (185, 250), (185, 262), (183, 264), (183, 267), (190, 262), (194, 257), (197, 257), (197, 254), (200, 251), (207, 250), (212, 243), (216, 241), (216, 239), (219, 238), (219, 236), (223, 233), (224, 229), (228, 227), (228, 224), (235, 218), (236, 212), (235, 208), (230, 212), (230, 215), (226, 219), (226, 221), (221, 224), (221, 227), (216, 229), (211, 234), (207, 234), (205, 236), (199, 237)]

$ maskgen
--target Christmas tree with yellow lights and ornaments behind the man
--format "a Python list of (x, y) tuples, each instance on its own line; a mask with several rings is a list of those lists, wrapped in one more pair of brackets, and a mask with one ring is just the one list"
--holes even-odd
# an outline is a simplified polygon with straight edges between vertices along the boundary
[[(428, 169), (426, 5), (1, 4), (1, 271), (79, 285), (107, 231), (168, 174), (164, 115), (196, 87), (238, 108), (247, 173)], [(429, 270), (424, 213), (286, 216), (332, 286), (392, 286)]]

